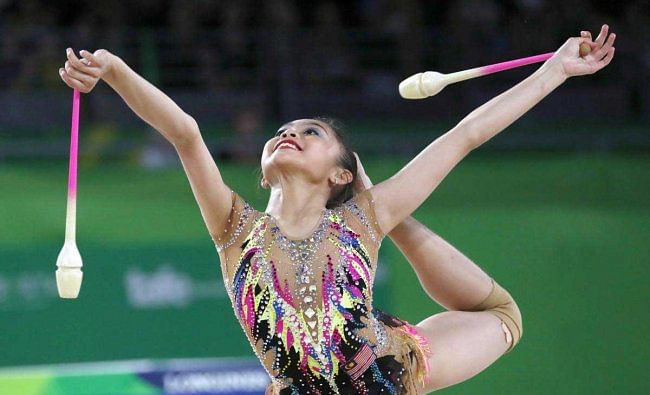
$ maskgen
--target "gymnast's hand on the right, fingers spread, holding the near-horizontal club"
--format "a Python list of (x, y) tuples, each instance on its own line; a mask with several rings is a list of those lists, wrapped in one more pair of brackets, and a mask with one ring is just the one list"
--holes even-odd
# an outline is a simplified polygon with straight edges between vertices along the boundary
[[(614, 40), (616, 34), (610, 33), (607, 25), (602, 26), (596, 41), (592, 41), (589, 31), (582, 31), (580, 37), (569, 38), (548, 62), (558, 67), (566, 78), (593, 74), (607, 66), (614, 58)], [(581, 57), (580, 44), (583, 42), (589, 44), (591, 52)]]

